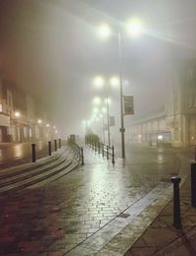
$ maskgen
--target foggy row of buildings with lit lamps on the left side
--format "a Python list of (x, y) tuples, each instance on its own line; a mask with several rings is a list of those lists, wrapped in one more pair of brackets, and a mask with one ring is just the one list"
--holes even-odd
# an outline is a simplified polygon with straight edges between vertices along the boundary
[(0, 142), (35, 142), (58, 137), (47, 112), (14, 82), (0, 78)]

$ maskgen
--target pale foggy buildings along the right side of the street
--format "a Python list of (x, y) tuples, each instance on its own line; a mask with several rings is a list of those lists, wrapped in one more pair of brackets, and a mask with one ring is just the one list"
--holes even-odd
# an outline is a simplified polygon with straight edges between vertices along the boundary
[(173, 75), (165, 111), (130, 125), (126, 129), (128, 141), (172, 147), (196, 145), (196, 60), (180, 61)]

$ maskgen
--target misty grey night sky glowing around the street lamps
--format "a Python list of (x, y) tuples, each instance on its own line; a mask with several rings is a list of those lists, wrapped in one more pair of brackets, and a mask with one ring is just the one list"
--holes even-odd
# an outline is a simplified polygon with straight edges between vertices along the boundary
[[(146, 29), (134, 39), (123, 30), (133, 16)], [(125, 126), (163, 111), (173, 63), (196, 55), (195, 0), (0, 0), (0, 71), (48, 105), (67, 133), (79, 133), (93, 96), (103, 94), (93, 77), (119, 72), (117, 37), (104, 41), (96, 32), (103, 22), (123, 34), (124, 95), (135, 100)], [(110, 96), (111, 115), (119, 116), (118, 89)]]

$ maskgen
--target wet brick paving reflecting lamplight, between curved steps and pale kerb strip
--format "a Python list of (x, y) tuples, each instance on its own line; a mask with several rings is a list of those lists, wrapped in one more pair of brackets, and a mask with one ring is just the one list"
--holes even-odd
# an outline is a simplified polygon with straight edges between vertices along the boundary
[(0, 198), (1, 255), (64, 255), (177, 171), (172, 152), (157, 149), (132, 149), (127, 167), (84, 156), (61, 179)]

